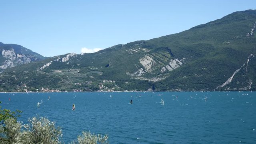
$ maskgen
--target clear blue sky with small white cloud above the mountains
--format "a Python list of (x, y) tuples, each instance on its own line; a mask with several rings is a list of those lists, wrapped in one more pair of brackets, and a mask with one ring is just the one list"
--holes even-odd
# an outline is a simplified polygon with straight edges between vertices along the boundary
[(188, 30), (256, 0), (0, 0), (0, 42), (43, 56), (94, 52)]

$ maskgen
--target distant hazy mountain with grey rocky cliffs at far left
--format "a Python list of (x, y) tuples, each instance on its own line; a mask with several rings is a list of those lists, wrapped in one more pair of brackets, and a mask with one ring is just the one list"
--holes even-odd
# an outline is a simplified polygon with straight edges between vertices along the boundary
[(3, 44), (0, 42), (0, 72), (6, 68), (12, 68), (30, 62), (43, 60), (40, 54), (32, 52), (16, 44)]

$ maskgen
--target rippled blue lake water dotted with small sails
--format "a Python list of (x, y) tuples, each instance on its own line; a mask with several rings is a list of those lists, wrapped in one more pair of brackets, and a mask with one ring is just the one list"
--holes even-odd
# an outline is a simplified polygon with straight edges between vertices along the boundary
[(66, 143), (88, 130), (108, 134), (110, 144), (256, 143), (256, 92), (0, 93), (0, 101), (22, 110), (24, 123), (55, 121)]

